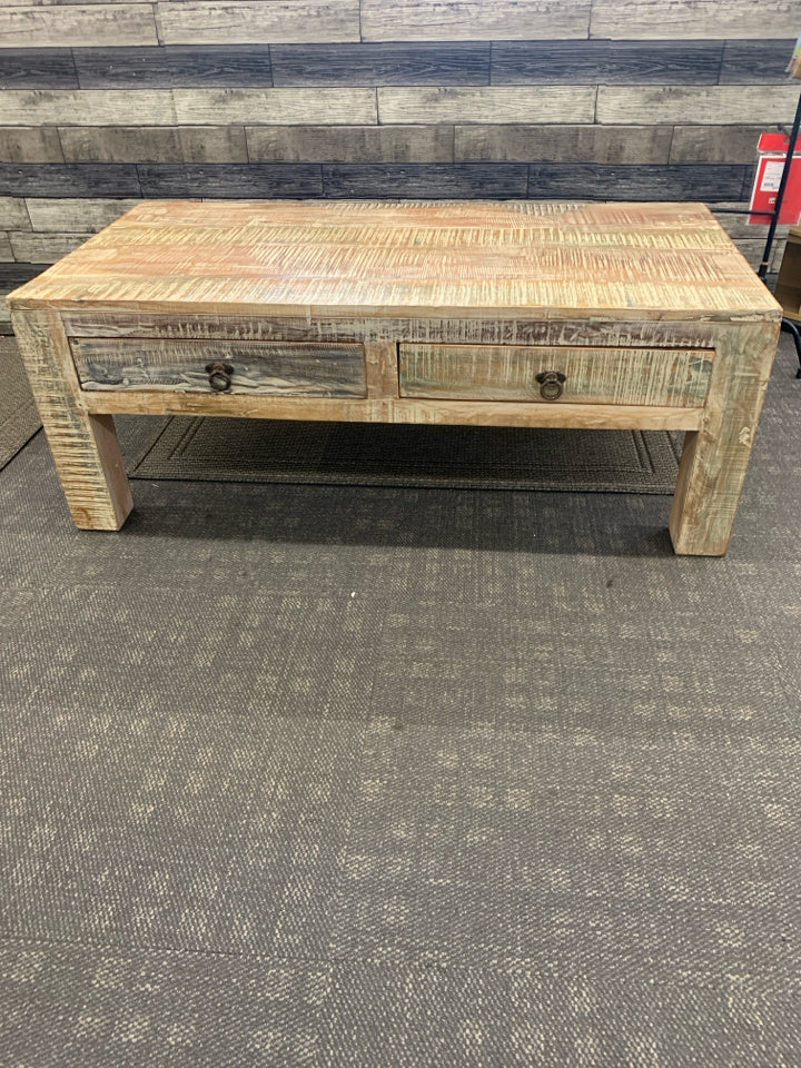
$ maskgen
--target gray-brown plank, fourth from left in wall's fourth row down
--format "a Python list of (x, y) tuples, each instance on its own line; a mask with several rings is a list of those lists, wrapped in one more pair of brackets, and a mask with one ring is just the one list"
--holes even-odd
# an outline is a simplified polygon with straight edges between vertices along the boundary
[(668, 162), (669, 126), (456, 126), (456, 160)]

